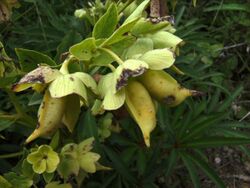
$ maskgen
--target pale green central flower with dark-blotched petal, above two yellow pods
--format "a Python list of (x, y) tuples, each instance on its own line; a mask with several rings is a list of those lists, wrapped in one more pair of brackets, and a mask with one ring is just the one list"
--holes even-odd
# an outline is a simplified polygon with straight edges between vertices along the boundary
[[(135, 56), (134, 56), (135, 57)], [(116, 110), (125, 102), (125, 87), (129, 79), (142, 75), (147, 69), (162, 70), (173, 65), (175, 56), (169, 49), (150, 50), (137, 59), (128, 59), (112, 73), (102, 77), (98, 89), (105, 110)]]

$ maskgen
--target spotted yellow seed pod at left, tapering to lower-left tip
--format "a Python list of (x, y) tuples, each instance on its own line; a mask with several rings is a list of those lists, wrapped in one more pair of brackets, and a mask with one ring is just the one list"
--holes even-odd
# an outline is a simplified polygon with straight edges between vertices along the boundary
[(51, 135), (62, 121), (66, 100), (62, 98), (52, 98), (49, 90), (46, 90), (43, 101), (38, 111), (38, 124), (33, 133), (26, 139), (29, 143), (40, 136)]

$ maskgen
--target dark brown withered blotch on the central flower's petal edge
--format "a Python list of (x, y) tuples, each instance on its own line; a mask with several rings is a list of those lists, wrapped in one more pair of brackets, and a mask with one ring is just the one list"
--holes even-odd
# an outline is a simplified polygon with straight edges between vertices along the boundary
[(136, 70), (123, 69), (120, 77), (117, 79), (116, 90), (120, 90), (123, 86), (127, 85), (129, 77), (137, 77), (142, 75), (146, 71), (145, 67), (139, 67)]

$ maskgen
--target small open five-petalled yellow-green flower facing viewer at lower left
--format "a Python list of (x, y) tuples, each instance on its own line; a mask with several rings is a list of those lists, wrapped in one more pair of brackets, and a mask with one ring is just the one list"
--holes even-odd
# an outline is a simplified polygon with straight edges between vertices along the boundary
[(30, 153), (27, 161), (32, 164), (34, 172), (42, 174), (44, 172), (52, 173), (59, 164), (58, 154), (48, 145), (40, 146), (36, 151)]

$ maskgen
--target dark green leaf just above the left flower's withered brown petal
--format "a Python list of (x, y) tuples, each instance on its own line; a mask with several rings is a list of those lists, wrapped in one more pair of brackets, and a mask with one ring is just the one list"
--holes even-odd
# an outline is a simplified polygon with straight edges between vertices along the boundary
[(42, 64), (56, 65), (49, 56), (40, 52), (23, 48), (16, 48), (15, 51), (23, 72), (30, 72)]

